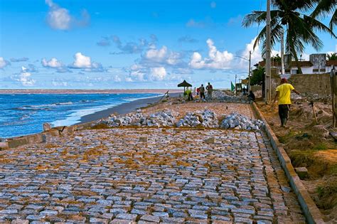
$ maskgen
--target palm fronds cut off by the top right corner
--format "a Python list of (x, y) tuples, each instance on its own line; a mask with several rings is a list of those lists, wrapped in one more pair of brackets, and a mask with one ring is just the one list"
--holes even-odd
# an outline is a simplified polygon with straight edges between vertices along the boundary
[(337, 9), (336, 0), (317, 0), (316, 9), (312, 12), (311, 17), (326, 17), (328, 14), (333, 14), (329, 23), (329, 28), (337, 25)]

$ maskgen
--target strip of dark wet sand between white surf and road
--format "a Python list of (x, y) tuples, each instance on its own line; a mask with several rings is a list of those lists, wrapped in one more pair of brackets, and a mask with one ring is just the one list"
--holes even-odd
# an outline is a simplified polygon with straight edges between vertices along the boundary
[[(173, 93), (169, 93), (170, 97), (177, 97), (178, 95), (180, 95), (181, 92), (173, 92)], [(99, 119), (103, 119), (105, 117), (109, 117), (110, 114), (127, 114), (129, 112), (134, 112), (135, 110), (138, 110), (141, 107), (146, 107), (149, 105), (154, 104), (155, 102), (158, 102), (161, 97), (163, 96), (159, 96), (159, 97), (148, 97), (148, 98), (144, 98), (144, 99), (139, 99), (139, 100), (134, 100), (131, 102), (124, 102), (121, 105), (116, 105), (114, 107), (108, 108), (106, 110), (101, 110), (99, 112), (95, 112), (93, 114), (87, 114), (83, 117), (80, 118), (80, 122), (76, 123), (76, 124), (84, 124), (87, 122), (93, 122)], [(73, 124), (73, 125), (76, 125)]]

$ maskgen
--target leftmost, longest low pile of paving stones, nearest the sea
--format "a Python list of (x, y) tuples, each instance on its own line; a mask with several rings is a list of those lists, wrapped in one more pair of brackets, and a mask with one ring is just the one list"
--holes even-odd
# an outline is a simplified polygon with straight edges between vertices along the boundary
[(171, 110), (164, 110), (156, 112), (149, 116), (144, 115), (141, 111), (135, 114), (112, 115), (108, 119), (103, 119), (99, 123), (106, 124), (109, 127), (122, 127), (122, 126), (139, 126), (139, 127), (173, 127), (176, 120), (175, 112)]

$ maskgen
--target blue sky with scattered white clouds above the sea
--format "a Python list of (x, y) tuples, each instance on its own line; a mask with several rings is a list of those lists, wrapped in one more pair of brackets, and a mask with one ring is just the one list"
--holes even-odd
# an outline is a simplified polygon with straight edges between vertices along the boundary
[[(266, 0), (0, 0), (0, 89), (230, 87), (247, 77), (250, 50), (252, 65), (261, 60), (253, 43), (262, 25), (241, 24), (265, 8)], [(320, 53), (336, 52), (336, 39), (319, 37)]]

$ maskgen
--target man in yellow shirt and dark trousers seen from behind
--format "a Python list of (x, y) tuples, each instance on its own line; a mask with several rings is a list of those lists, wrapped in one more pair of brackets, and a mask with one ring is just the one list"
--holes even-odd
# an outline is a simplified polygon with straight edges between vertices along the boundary
[(281, 127), (286, 127), (287, 119), (289, 119), (289, 110), (291, 105), (291, 91), (296, 92), (296, 94), (300, 95), (299, 92), (295, 90), (295, 88), (287, 83), (286, 78), (281, 79), (281, 85), (276, 88), (276, 95), (274, 97), (274, 105), (275, 101), (278, 98), (279, 102), (279, 119), (281, 119)]

